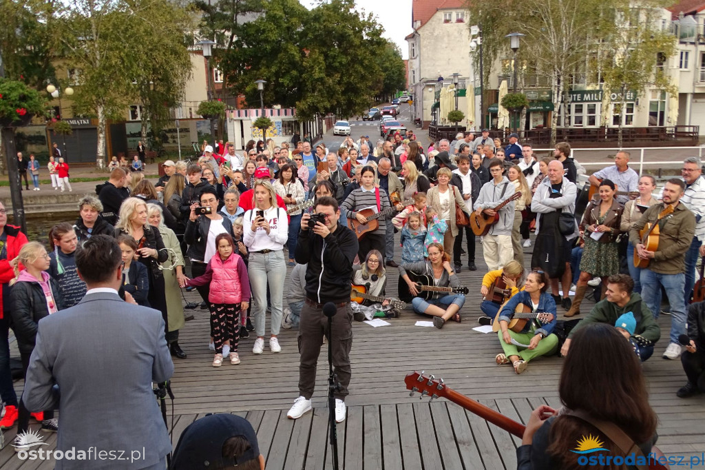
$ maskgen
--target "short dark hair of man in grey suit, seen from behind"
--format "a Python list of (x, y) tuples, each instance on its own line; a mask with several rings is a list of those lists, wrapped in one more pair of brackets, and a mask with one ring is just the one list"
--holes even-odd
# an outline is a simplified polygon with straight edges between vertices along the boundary
[(123, 262), (118, 242), (108, 235), (94, 235), (76, 250), (76, 269), (86, 284), (108, 282)]

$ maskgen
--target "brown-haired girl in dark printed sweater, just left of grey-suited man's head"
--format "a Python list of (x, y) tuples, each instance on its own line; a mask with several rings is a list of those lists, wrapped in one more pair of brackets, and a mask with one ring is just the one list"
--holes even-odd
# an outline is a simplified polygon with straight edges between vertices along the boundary
[(49, 231), (49, 275), (59, 282), (59, 291), (66, 308), (79, 303), (86, 293), (86, 284), (78, 277), (74, 258), (78, 238), (68, 222), (54, 225)]

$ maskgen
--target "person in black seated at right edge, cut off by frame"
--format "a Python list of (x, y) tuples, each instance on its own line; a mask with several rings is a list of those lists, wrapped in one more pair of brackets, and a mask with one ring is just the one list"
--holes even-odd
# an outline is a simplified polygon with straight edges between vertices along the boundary
[[(680, 355), (688, 382), (678, 389), (680, 398), (705, 392), (705, 302), (688, 307), (688, 345)], [(684, 338), (685, 339), (685, 338)]]

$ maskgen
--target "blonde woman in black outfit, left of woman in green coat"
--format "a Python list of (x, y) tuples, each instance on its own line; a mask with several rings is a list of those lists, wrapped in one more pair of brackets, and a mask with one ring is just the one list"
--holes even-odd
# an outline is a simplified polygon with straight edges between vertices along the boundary
[(164, 275), (159, 270), (159, 265), (168, 259), (168, 252), (161, 239), (159, 230), (149, 225), (147, 203), (140, 198), (127, 198), (120, 206), (120, 219), (115, 226), (115, 238), (123, 234), (133, 237), (137, 241), (138, 261), (147, 266), (149, 273), (149, 295), (147, 301), (152, 308), (161, 312), (164, 318), (165, 335), (168, 325), (166, 311), (166, 297), (164, 294)]

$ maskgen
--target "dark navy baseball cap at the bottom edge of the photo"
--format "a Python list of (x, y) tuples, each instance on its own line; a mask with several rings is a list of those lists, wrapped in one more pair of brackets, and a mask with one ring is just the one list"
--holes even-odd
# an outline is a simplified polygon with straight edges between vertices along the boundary
[[(250, 448), (240, 455), (223, 458), (223, 444), (236, 436), (250, 442)], [(171, 469), (226, 468), (258, 457), (257, 435), (249, 421), (234, 414), (211, 414), (194, 421), (183, 431), (174, 450)]]

